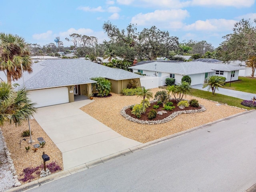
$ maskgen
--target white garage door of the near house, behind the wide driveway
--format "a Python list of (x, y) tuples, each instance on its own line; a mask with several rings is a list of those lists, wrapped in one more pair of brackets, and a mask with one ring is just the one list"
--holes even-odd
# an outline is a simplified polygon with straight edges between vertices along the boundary
[(29, 92), (29, 98), (32, 100), (32, 102), (37, 103), (36, 107), (68, 103), (68, 88), (58, 87), (32, 90)]

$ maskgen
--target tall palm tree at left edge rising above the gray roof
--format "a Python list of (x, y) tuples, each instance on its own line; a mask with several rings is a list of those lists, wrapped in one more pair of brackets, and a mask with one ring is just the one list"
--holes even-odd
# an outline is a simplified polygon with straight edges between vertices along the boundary
[(9, 84), (22, 77), (22, 67), (24, 71), (32, 72), (29, 54), (30, 49), (24, 38), (0, 33), (0, 70), (6, 71)]

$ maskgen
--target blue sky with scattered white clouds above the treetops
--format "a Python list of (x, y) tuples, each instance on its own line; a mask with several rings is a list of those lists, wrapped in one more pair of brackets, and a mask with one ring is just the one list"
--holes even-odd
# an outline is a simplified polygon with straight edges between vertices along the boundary
[(214, 47), (232, 32), (240, 19), (256, 18), (255, 0), (4, 0), (0, 32), (17, 34), (29, 43), (54, 43), (69, 34), (107, 39), (105, 21), (124, 29), (137, 24), (138, 31), (156, 26), (180, 40), (206, 40)]

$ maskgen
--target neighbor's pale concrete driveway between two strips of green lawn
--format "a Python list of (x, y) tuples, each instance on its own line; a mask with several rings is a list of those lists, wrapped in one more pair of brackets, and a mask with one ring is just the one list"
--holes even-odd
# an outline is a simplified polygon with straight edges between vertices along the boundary
[[(202, 88), (202, 87), (203, 87), (203, 84), (192, 85), (192, 88), (194, 88), (194, 89), (207, 91), (208, 87), (206, 87), (206, 88)], [(212, 89), (210, 89), (210, 92), (212, 92)], [(250, 101), (252, 101), (252, 98), (254, 96), (256, 98), (256, 94), (242, 92), (242, 91), (236, 91), (236, 90), (231, 90), (231, 89), (225, 89), (225, 88), (221, 88), (221, 87), (219, 87), (219, 90), (216, 89), (215, 93), (240, 98), (242, 100), (250, 100)]]

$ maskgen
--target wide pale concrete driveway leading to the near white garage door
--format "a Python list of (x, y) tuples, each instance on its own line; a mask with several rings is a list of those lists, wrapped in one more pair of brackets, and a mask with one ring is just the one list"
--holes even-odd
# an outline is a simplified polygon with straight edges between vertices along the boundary
[(121, 136), (79, 109), (90, 102), (92, 100), (42, 107), (34, 115), (62, 152), (64, 170), (141, 144)]

